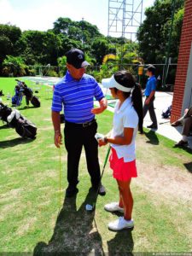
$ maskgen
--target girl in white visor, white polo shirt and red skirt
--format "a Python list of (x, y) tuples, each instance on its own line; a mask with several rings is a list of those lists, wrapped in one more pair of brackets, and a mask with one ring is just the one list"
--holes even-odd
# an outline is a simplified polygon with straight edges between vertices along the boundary
[(131, 73), (119, 71), (110, 79), (102, 79), (102, 85), (111, 90), (118, 99), (114, 108), (113, 129), (98, 141), (99, 146), (110, 143), (112, 154), (110, 167), (119, 186), (119, 202), (107, 204), (108, 212), (124, 212), (124, 217), (108, 224), (109, 230), (118, 231), (134, 226), (132, 219), (133, 198), (131, 177), (137, 177), (136, 147), (137, 131), (143, 132), (142, 92)]

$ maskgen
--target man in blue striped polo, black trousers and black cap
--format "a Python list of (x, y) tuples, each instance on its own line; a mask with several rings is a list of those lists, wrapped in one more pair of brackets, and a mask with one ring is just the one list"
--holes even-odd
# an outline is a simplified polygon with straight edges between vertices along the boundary
[[(61, 144), (60, 112), (62, 106), (65, 114), (64, 142), (67, 149), (66, 196), (71, 197), (79, 192), (79, 160), (84, 146), (87, 169), (93, 189), (99, 189), (105, 195), (101, 184), (101, 172), (98, 160), (98, 143), (96, 142), (97, 124), (95, 114), (102, 113), (108, 106), (102, 89), (96, 79), (85, 73), (90, 65), (84, 61), (84, 53), (79, 49), (67, 52), (67, 73), (55, 84), (52, 102), (52, 121), (55, 130), (55, 146)], [(94, 97), (100, 107), (94, 108)]]

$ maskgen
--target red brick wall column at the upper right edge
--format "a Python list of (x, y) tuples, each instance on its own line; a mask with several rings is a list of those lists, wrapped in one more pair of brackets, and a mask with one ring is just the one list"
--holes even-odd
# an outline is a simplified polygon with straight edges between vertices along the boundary
[(192, 43), (192, 0), (185, 0), (183, 28), (179, 48), (177, 74), (174, 86), (172, 102), (171, 122), (174, 122), (182, 114), (184, 88), (187, 79), (189, 55)]

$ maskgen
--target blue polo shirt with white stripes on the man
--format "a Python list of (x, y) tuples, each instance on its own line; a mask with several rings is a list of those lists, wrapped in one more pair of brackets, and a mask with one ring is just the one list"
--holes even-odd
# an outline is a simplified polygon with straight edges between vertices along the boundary
[(91, 109), (94, 108), (94, 97), (97, 101), (104, 97), (96, 79), (84, 73), (80, 80), (76, 80), (67, 71), (64, 78), (55, 84), (51, 109), (61, 112), (63, 106), (68, 122), (83, 124), (95, 118), (91, 113)]

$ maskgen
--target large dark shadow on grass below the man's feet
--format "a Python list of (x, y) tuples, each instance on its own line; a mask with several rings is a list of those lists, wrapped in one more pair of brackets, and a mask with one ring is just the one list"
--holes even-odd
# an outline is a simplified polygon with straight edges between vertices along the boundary
[(76, 197), (65, 198), (61, 212), (56, 220), (54, 234), (48, 244), (38, 242), (33, 255), (46, 255), (47, 253), (65, 253), (80, 255), (81, 253), (104, 254), (102, 237), (94, 228), (95, 211), (86, 212), (86, 204), (94, 200), (96, 193), (89, 192), (84, 203), (77, 209)]

